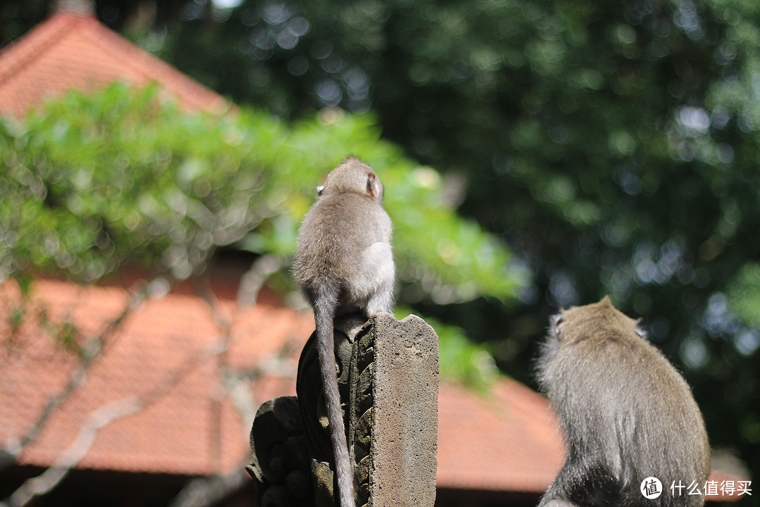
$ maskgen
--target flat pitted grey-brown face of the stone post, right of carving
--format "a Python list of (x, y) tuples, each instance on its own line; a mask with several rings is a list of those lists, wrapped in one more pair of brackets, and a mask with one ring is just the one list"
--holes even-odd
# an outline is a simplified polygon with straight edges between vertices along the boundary
[(370, 505), (435, 503), (438, 336), (416, 315), (370, 321), (372, 386)]

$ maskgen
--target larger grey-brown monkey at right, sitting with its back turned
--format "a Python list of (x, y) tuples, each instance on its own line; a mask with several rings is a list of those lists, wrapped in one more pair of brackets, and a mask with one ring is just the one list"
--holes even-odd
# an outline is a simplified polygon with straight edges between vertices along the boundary
[[(567, 455), (540, 506), (702, 505), (670, 485), (696, 481), (704, 493), (710, 447), (692, 392), (644, 339), (638, 321), (610, 298), (552, 318), (537, 379), (556, 410)], [(662, 494), (640, 490), (657, 477)]]

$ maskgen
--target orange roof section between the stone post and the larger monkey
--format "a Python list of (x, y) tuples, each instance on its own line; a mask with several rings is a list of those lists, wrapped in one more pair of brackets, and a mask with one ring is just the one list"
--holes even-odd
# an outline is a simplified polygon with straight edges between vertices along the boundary
[(562, 467), (563, 453), (549, 402), (520, 382), (499, 379), (487, 395), (441, 386), (439, 486), (543, 492)]

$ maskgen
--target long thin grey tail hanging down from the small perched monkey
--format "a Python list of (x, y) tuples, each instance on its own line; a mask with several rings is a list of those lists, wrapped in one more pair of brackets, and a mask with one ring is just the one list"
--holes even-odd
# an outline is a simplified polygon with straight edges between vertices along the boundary
[(317, 327), (317, 351), (319, 367), (325, 387), (325, 401), (330, 422), (330, 439), (335, 456), (335, 473), (340, 507), (356, 507), (353, 492), (353, 467), (346, 442), (343, 411), (340, 410), (340, 393), (335, 372), (335, 344), (333, 318), (337, 307), (337, 295), (322, 293), (315, 301), (314, 319)]

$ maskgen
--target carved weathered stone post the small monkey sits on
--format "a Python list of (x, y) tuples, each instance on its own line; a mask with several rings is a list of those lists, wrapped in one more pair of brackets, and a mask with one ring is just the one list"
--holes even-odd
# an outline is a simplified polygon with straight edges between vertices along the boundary
[[(256, 505), (333, 507), (334, 464), (315, 334), (299, 360), (297, 398), (261, 405), (251, 430)], [(357, 505), (432, 507), (438, 442), (438, 337), (416, 315), (335, 320)], [(308, 479), (307, 479), (308, 477)], [(310, 483), (311, 488), (305, 486)], [(305, 491), (309, 490), (309, 491)]]

